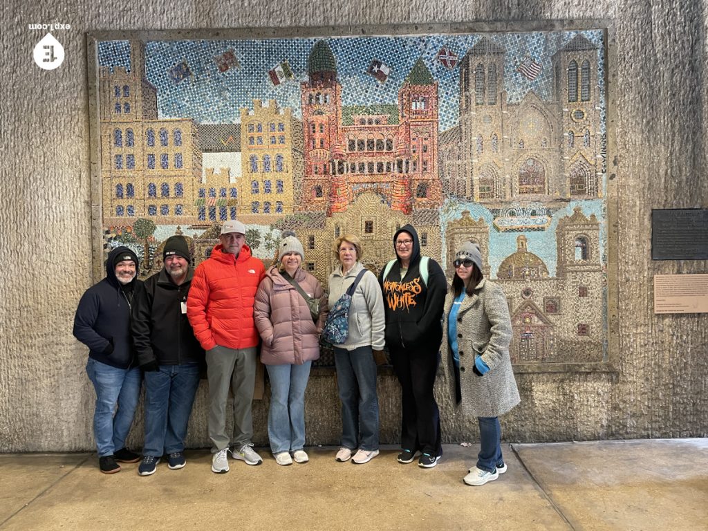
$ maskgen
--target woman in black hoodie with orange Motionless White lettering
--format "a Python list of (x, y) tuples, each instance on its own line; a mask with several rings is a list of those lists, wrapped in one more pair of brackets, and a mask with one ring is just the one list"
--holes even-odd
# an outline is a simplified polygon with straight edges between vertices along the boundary
[[(418, 233), (410, 224), (394, 234), (396, 260), (379, 283), (384, 293), (386, 346), (401, 383), (401, 463), (421, 452), (418, 466), (435, 467), (442, 457), (440, 411), (433, 395), (440, 362), (442, 307), (447, 282), (430, 258), (421, 264)], [(385, 275), (385, 278), (384, 278)], [(426, 278), (427, 276), (427, 278)]]

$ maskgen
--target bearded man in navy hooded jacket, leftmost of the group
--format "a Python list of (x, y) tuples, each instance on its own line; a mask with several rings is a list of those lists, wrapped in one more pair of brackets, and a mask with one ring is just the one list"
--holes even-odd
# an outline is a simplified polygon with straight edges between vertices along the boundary
[(141, 282), (138, 265), (137, 256), (127, 247), (110, 251), (105, 278), (86, 290), (74, 316), (74, 336), (89, 347), (86, 373), (96, 389), (93, 437), (104, 474), (120, 471), (116, 461), (140, 460), (125, 447), (142, 383), (130, 334), (134, 288)]

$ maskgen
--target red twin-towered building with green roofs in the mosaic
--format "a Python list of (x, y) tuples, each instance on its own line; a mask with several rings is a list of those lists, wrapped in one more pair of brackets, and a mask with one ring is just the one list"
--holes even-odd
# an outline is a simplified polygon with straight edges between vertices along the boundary
[(304, 173), (300, 210), (346, 211), (365, 192), (393, 210), (439, 207), (438, 83), (418, 59), (399, 89), (398, 102), (342, 105), (334, 55), (316, 42), (302, 82)]

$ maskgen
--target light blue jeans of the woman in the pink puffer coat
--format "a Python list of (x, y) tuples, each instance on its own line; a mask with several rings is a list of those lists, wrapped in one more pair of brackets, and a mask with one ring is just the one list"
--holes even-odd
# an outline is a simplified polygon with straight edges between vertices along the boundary
[(265, 365), (270, 379), (268, 440), (274, 454), (305, 445), (305, 387), (312, 361), (302, 365)]

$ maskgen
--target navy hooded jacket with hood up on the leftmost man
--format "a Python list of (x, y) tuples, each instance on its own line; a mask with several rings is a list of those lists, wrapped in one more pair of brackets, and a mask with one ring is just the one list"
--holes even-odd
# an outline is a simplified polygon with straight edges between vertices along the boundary
[(110, 251), (105, 261), (105, 278), (89, 287), (79, 301), (74, 316), (74, 337), (89, 347), (89, 357), (119, 369), (135, 367), (135, 352), (130, 335), (130, 305), (134, 278), (126, 285), (115, 278), (115, 259), (130, 255), (138, 270), (139, 262), (133, 251), (120, 246)]

